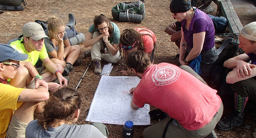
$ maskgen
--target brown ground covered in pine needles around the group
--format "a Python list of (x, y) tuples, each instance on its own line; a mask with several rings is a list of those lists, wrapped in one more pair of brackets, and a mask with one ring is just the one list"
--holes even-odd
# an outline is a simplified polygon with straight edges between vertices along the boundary
[[(68, 22), (68, 13), (73, 13), (77, 25), (75, 29), (79, 33), (84, 33), (86, 35), (89, 27), (93, 24), (93, 17), (99, 15), (100, 13), (105, 14), (108, 19), (117, 24), (120, 28), (120, 31), (126, 28), (135, 28), (135, 27), (146, 27), (156, 34), (156, 44), (157, 51), (155, 52), (154, 61), (155, 63), (167, 62), (177, 65), (178, 59), (174, 58), (175, 55), (179, 52), (179, 49), (175, 46), (174, 43), (170, 41), (170, 36), (164, 33), (164, 29), (167, 25), (174, 22), (174, 19), (171, 18), (169, 11), (169, 0), (146, 0), (146, 18), (140, 24), (128, 23), (128, 22), (119, 22), (114, 21), (111, 16), (111, 8), (119, 2), (117, 0), (41, 0), (41, 1), (32, 1), (27, 0), (28, 5), (25, 6), (24, 11), (5, 11), (0, 15), (1, 24), (0, 24), (0, 43), (7, 43), (9, 40), (14, 39), (22, 34), (22, 26), (30, 21), (42, 20), (46, 21), (47, 17), (50, 17), (54, 14), (62, 18), (65, 23)], [(255, 21), (255, 7), (252, 6), (252, 0), (231, 0), (234, 9), (238, 13), (243, 25), (246, 25), (252, 21)], [(216, 5), (212, 2), (211, 6), (214, 7), (214, 12), (216, 10)], [(211, 13), (215, 15), (215, 13)], [(90, 48), (84, 48), (83, 44), (80, 44), (82, 48), (82, 53), (80, 58), (82, 63), (79, 66), (74, 67), (74, 71), (70, 72), (68, 76), (70, 79), (69, 86), (75, 88), (77, 83), (81, 79), (81, 76), (84, 74), (86, 68), (88, 67), (91, 58), (85, 58), (84, 52)], [(126, 70), (126, 67), (123, 66), (124, 61), (121, 60), (118, 64), (113, 64), (114, 68), (110, 75), (120, 76), (119, 71)], [(102, 66), (106, 62), (102, 62)], [(85, 102), (81, 109), (81, 116), (78, 120), (78, 124), (88, 124), (89, 122), (85, 121), (87, 117), (90, 104), (93, 100), (93, 95), (98, 86), (100, 80), (100, 75), (95, 75), (93, 73), (93, 66), (89, 67), (83, 81), (81, 82), (81, 88), (78, 89), (84, 96)], [(152, 108), (151, 108), (152, 109)], [(224, 116), (230, 111), (224, 109)], [(252, 133), (255, 131), (255, 117), (245, 114), (246, 121), (244, 125), (238, 127), (229, 132), (223, 132), (216, 130), (220, 138), (244, 138), (244, 137), (253, 137)], [(156, 123), (152, 121), (151, 123)], [(245, 125), (251, 126), (250, 129), (245, 128)], [(109, 130), (109, 138), (119, 138), (122, 137), (122, 127), (121, 125), (106, 125)], [(144, 128), (147, 126), (135, 126), (135, 138), (142, 137)]]

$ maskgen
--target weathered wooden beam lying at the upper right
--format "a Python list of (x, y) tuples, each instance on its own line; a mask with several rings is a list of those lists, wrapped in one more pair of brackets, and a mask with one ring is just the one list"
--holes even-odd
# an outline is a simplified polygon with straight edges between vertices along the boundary
[(243, 28), (241, 21), (239, 20), (231, 2), (229, 0), (220, 2), (220, 9), (222, 15), (228, 21), (228, 30), (230, 33), (239, 33), (239, 30)]

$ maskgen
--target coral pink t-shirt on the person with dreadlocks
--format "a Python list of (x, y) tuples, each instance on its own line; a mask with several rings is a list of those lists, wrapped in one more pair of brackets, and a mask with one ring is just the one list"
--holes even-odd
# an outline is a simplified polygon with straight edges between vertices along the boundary
[[(156, 36), (151, 30), (146, 28), (135, 28), (135, 30), (140, 34), (150, 34), (156, 42)], [(152, 39), (151, 36), (148, 36), (148, 35), (143, 36), (143, 44), (145, 47), (144, 52), (146, 53), (151, 52), (154, 49), (154, 40)]]

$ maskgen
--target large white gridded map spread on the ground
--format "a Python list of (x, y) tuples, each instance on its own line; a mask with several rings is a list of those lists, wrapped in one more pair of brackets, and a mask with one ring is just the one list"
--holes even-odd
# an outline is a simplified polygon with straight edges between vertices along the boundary
[(139, 82), (138, 77), (102, 75), (85, 121), (116, 125), (132, 121), (134, 125), (150, 125), (150, 105), (138, 110), (130, 106), (129, 90)]

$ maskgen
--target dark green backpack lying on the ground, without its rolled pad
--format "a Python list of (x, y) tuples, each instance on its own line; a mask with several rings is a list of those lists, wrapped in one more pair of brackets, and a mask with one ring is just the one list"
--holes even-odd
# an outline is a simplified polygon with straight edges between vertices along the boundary
[(120, 2), (111, 10), (112, 17), (119, 21), (119, 13), (131, 13), (142, 15), (142, 20), (145, 18), (145, 4), (144, 0), (137, 2)]

